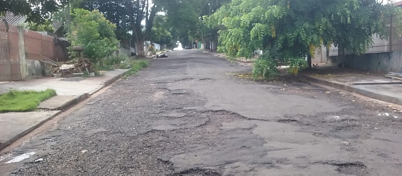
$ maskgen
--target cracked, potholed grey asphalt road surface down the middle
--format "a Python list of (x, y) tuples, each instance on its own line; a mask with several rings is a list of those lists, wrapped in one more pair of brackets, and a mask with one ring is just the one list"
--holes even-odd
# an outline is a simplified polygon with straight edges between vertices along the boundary
[(0, 175), (401, 175), (401, 113), (292, 77), (239, 78), (248, 65), (207, 53), (168, 56), (2, 153)]

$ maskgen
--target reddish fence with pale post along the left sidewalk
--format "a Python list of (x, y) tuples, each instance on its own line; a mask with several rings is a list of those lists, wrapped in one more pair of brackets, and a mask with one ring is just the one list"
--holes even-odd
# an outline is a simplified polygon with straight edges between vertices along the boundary
[[(27, 61), (41, 60), (41, 55), (54, 61), (68, 59), (68, 42), (57, 37), (0, 23), (0, 82), (25, 80), (33, 68)], [(35, 68), (37, 69), (37, 68)], [(40, 70), (40, 69), (39, 69)]]

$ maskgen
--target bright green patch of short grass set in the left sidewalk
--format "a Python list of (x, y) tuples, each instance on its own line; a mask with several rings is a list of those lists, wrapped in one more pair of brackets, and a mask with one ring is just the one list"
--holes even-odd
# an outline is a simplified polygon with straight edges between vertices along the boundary
[(0, 95), (0, 113), (33, 111), (42, 101), (55, 95), (56, 91), (53, 89), (9, 90)]

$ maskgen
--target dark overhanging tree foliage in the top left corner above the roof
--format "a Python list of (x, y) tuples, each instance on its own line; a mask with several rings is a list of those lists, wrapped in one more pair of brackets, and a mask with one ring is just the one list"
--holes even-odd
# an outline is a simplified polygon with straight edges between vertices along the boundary
[(45, 23), (51, 12), (56, 12), (67, 2), (68, 0), (2, 0), (0, 15), (12, 12), (15, 15), (25, 15), (27, 22)]

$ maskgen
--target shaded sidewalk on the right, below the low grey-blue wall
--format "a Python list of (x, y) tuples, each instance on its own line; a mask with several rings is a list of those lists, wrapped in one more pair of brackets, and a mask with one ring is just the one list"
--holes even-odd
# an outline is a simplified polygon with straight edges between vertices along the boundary
[(386, 78), (384, 75), (330, 66), (299, 74), (312, 82), (402, 105), (402, 81)]

